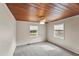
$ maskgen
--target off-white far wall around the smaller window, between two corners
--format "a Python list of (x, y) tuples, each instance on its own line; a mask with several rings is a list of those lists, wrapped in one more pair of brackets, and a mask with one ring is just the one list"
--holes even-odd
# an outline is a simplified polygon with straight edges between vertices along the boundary
[[(38, 26), (38, 36), (30, 37), (29, 35), (29, 26), (37, 25)], [(46, 40), (46, 25), (34, 23), (34, 22), (25, 22), (17, 21), (17, 45), (24, 45), (29, 43), (41, 42)]]

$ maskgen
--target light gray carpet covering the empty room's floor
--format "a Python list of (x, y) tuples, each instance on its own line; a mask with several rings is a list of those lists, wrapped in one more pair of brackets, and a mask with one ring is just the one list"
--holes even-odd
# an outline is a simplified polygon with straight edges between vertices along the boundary
[(14, 56), (74, 56), (74, 54), (51, 43), (41, 42), (17, 46)]

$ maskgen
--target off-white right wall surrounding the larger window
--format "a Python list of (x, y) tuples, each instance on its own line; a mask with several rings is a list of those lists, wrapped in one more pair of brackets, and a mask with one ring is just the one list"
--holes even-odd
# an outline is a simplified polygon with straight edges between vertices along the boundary
[[(53, 37), (54, 24), (65, 23), (65, 39), (55, 39)], [(56, 22), (47, 24), (47, 39), (48, 41), (58, 44), (68, 50), (79, 54), (79, 15), (66, 18)]]

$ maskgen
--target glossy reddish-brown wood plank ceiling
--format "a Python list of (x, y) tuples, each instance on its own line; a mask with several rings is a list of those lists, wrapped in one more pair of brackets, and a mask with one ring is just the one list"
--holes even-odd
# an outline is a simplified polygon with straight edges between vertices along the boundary
[(17, 21), (56, 21), (79, 14), (78, 3), (7, 3)]

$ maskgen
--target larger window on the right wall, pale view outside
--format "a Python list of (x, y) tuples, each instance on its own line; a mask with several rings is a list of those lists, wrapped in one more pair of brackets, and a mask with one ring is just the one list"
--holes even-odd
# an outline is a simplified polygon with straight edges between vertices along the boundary
[(54, 38), (64, 39), (64, 24), (54, 24)]

